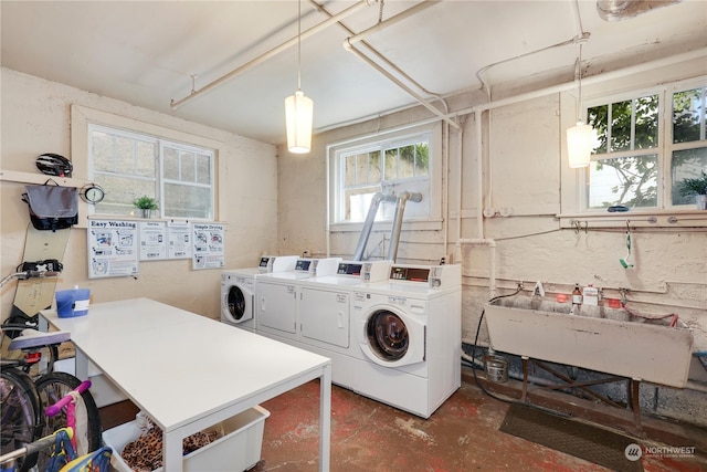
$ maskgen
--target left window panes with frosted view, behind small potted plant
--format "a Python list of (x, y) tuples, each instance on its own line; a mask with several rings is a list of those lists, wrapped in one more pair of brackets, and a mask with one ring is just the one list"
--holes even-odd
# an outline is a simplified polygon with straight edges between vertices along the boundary
[(159, 201), (162, 218), (214, 219), (214, 150), (157, 136), (88, 125), (95, 182), (106, 192), (95, 211), (130, 214), (144, 195)]

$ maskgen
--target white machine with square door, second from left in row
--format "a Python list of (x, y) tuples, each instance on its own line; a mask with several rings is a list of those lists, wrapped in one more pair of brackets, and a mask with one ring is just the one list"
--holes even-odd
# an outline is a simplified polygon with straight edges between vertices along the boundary
[(291, 271), (263, 274), (257, 280), (258, 334), (297, 345), (299, 281), (336, 273), (340, 258), (298, 259)]

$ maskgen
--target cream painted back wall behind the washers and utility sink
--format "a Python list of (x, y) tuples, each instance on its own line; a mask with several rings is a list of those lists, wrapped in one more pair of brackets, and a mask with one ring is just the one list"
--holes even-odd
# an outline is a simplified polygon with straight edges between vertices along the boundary
[[(686, 78), (706, 72), (703, 57), (689, 64), (641, 72), (611, 82), (594, 81), (587, 92), (633, 90), (659, 83), (662, 78)], [(452, 111), (468, 111), (484, 103), (482, 98), (478, 94), (466, 94), (453, 97), (450, 104)], [(541, 281), (549, 297), (569, 294), (574, 283), (602, 287), (605, 297), (619, 297), (618, 289), (626, 287), (631, 290), (630, 306), (635, 311), (656, 316), (677, 313), (682, 323), (693, 331), (694, 349), (707, 350), (707, 230), (704, 227), (637, 229), (633, 235), (636, 262), (633, 271), (624, 270), (619, 263), (625, 254), (625, 228), (590, 225), (587, 232), (560, 228), (557, 214), (561, 211), (563, 192), (568, 191), (562, 186), (574, 178), (562, 150), (564, 129), (574, 124), (577, 116), (573, 105), (567, 105), (570, 98), (567, 92), (556, 92), (493, 107), (481, 115), (481, 136), (475, 132), (475, 115), (465, 114), (461, 153), (457, 132), (452, 132), (445, 144), (450, 157), (449, 175), (443, 179), (447, 208), (443, 229), (403, 229), (398, 261), (436, 263), (444, 254), (455, 254), (454, 262), (462, 264), (464, 275), (462, 327), (463, 339), (467, 343), (473, 343), (483, 306), (492, 296), (488, 289), (489, 250), (484, 245), (457, 245), (456, 242), (458, 238), (487, 238), (495, 240), (497, 245), (496, 294), (511, 292), (518, 281), (524, 282), (526, 295), (530, 294), (536, 281)], [(315, 255), (324, 255), (329, 238), (331, 255), (351, 256), (359, 233), (329, 234), (326, 231), (327, 145), (368, 135), (378, 128), (414, 123), (422, 116), (429, 114), (415, 108), (319, 134), (315, 136), (313, 151), (305, 156), (288, 155), (282, 148), (278, 159), (281, 251), (309, 250)], [(479, 138), (482, 208), (510, 211), (509, 217), (484, 218), (481, 234), (476, 218), (479, 201), (475, 150)], [(387, 237), (387, 232), (373, 232), (368, 247), (374, 247)], [(486, 339), (483, 327), (481, 340)], [(552, 339), (542, 342), (552, 343)], [(659, 346), (654, 348), (659, 349)], [(693, 360), (692, 367), (692, 379), (707, 379), (697, 360)], [(704, 394), (699, 395), (704, 397)], [(668, 410), (669, 406), (661, 412)], [(677, 409), (671, 415), (695, 421), (695, 412)], [(697, 417), (697, 422), (707, 422), (704, 415)]]

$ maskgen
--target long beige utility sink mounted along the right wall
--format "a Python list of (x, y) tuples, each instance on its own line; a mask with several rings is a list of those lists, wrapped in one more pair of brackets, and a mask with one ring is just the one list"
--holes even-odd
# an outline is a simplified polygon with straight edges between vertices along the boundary
[(518, 356), (577, 366), (672, 387), (685, 387), (693, 333), (632, 316), (623, 310), (528, 297), (485, 307), (490, 345)]

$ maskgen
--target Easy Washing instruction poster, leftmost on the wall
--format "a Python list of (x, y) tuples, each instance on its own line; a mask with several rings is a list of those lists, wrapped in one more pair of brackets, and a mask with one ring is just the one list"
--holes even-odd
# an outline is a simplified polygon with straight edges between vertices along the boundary
[(88, 279), (137, 276), (136, 221), (88, 221)]

